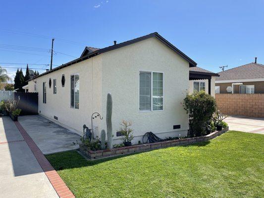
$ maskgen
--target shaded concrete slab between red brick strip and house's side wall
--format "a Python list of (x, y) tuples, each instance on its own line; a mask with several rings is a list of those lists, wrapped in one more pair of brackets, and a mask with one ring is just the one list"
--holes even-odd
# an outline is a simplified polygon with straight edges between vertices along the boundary
[(40, 115), (19, 116), (19, 123), (27, 131), (43, 154), (79, 148), (80, 136)]

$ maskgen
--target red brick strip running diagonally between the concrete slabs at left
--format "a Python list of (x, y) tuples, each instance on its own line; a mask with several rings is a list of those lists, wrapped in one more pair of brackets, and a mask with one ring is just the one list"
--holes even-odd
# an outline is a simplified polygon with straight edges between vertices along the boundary
[(58, 194), (60, 198), (75, 198), (73, 193), (70, 189), (66, 186), (64, 181), (60, 178), (58, 173), (55, 171), (53, 166), (50, 164), (48, 159), (44, 156), (42, 151), (38, 148), (36, 143), (32, 140), (32, 138), (28, 135), (25, 129), (21, 126), (18, 121), (14, 122), (18, 130), (20, 131), (21, 135), (25, 139), (27, 145), (32, 150), (34, 156), (36, 157), (37, 161), (39, 162), (41, 168), (47, 175), (48, 179), (50, 180), (54, 190)]

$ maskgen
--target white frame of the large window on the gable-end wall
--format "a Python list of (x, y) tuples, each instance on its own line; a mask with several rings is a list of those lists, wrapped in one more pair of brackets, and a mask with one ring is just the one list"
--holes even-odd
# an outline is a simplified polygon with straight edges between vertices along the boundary
[[(150, 72), (151, 73), (151, 110), (140, 110), (140, 72)], [(163, 86), (163, 107), (162, 110), (153, 110), (153, 73), (162, 73), (162, 86)], [(139, 112), (156, 112), (156, 111), (164, 111), (164, 72), (161, 71), (148, 71), (148, 70), (139, 70), (138, 72), (138, 110)]]

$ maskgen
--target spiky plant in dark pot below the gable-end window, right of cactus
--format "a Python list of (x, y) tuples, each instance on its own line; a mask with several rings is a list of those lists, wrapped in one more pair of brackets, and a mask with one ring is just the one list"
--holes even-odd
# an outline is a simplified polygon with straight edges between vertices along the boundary
[(134, 139), (133, 136), (134, 130), (130, 128), (132, 126), (132, 123), (122, 120), (120, 125), (121, 127), (119, 129), (119, 132), (122, 135), (123, 144), (125, 147), (129, 147), (132, 145), (131, 141)]

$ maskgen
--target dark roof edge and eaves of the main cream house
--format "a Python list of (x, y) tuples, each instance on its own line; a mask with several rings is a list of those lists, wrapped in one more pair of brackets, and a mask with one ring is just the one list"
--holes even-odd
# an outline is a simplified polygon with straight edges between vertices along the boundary
[[(195, 61), (193, 61), (191, 58), (189, 58), (186, 54), (184, 54), (182, 51), (180, 51), (179, 49), (177, 49), (175, 46), (173, 46), (171, 43), (169, 43), (167, 40), (165, 40), (163, 37), (161, 37), (157, 32), (154, 32), (152, 34), (149, 34), (149, 35), (145, 35), (143, 37), (139, 37), (139, 38), (136, 38), (136, 39), (132, 39), (130, 41), (126, 41), (126, 42), (123, 42), (123, 43), (119, 43), (119, 44), (116, 44), (116, 45), (113, 45), (113, 46), (109, 46), (109, 47), (106, 47), (106, 48), (103, 48), (103, 49), (97, 49), (95, 51), (92, 51), (84, 56), (81, 56), (80, 58), (77, 58), (75, 60), (72, 60), (68, 63), (65, 63), (65, 64), (62, 64), (58, 67), (55, 67), (54, 69), (52, 70), (49, 70), (45, 73), (42, 73), (32, 79), (35, 79), (35, 78), (38, 78), (40, 76), (44, 76), (44, 75), (47, 75), (49, 73), (52, 73), (53, 71), (56, 71), (56, 70), (59, 70), (59, 69), (62, 69), (64, 67), (67, 67), (67, 66), (70, 66), (70, 65), (73, 65), (75, 63), (78, 63), (78, 62), (81, 62), (81, 61), (84, 61), (88, 58), (91, 58), (93, 56), (96, 56), (96, 55), (99, 55), (101, 53), (104, 53), (106, 51), (110, 51), (110, 50), (113, 50), (113, 49), (118, 49), (118, 48), (122, 48), (122, 47), (125, 47), (125, 46), (128, 46), (128, 45), (131, 45), (131, 44), (134, 44), (134, 43), (137, 43), (137, 42), (140, 42), (140, 41), (143, 41), (145, 39), (149, 39), (149, 38), (152, 38), (152, 37), (155, 37), (157, 38), (159, 41), (161, 41), (163, 44), (165, 44), (167, 47), (169, 47), (170, 49), (172, 49), (173, 51), (175, 51), (178, 55), (180, 55), (182, 58), (184, 58), (185, 60), (187, 60), (189, 62), (189, 66), (190, 67), (196, 67), (197, 63)], [(90, 47), (89, 47), (90, 48)], [(85, 48), (87, 49), (87, 48)], [(85, 51), (85, 50), (84, 50)]]

